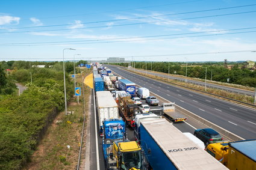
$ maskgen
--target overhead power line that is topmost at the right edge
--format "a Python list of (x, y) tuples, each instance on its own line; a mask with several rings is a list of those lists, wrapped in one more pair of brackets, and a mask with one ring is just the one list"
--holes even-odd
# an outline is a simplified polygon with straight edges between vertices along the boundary
[[(214, 8), (214, 9), (210, 9), (210, 10), (188, 11), (188, 12), (184, 12), (184, 13), (161, 14), (161, 15), (146, 16), (146, 17), (134, 17), (134, 18), (129, 18), (129, 19), (113, 19), (113, 20), (101, 20), (101, 21), (94, 21), (94, 22), (81, 22), (80, 24), (117, 22), (117, 21), (123, 21), (123, 20), (146, 19), (146, 18), (163, 17), (163, 16), (175, 16), (175, 15), (180, 15), (180, 14), (202, 13), (202, 12), (208, 12), (208, 11), (228, 10), (228, 9), (233, 9), (233, 8), (251, 7), (251, 6), (255, 6), (255, 5), (256, 4), (240, 5), (240, 6), (236, 6), (236, 7)], [(60, 24), (60, 25), (27, 26), (27, 27), (4, 28), (4, 29), (48, 28), (48, 27), (55, 27), (55, 26), (72, 26), (72, 25), (76, 25), (76, 23)], [(4, 29), (2, 29), (2, 30), (4, 30)]]

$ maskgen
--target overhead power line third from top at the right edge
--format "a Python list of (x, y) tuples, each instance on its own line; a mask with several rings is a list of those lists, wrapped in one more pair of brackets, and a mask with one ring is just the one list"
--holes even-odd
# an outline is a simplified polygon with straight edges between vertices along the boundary
[[(236, 28), (236, 29), (223, 29), (223, 30), (215, 30), (215, 31), (201, 31), (201, 32), (188, 32), (188, 33), (181, 33), (181, 34), (164, 34), (164, 35), (148, 35), (148, 36), (141, 36), (141, 37), (123, 37), (123, 38), (107, 38), (107, 39), (97, 39), (97, 40), (76, 40), (76, 41), (49, 41), (49, 42), (31, 42), (31, 43), (2, 43), (1, 45), (22, 45), (22, 44), (54, 44), (54, 43), (78, 43), (78, 42), (90, 42), (90, 41), (111, 41), (111, 40), (127, 40), (127, 39), (134, 39), (134, 38), (152, 38), (152, 37), (167, 37), (173, 35), (191, 35), (191, 34), (207, 34), (207, 33), (219, 33), (219, 32), (226, 32), (226, 31), (239, 31), (245, 29), (256, 29), (256, 27), (248, 27), (248, 28)], [(232, 32), (226, 33), (231, 34)], [(239, 32), (240, 33), (240, 32)], [(222, 34), (223, 35), (223, 34)], [(196, 35), (201, 36), (201, 35)], [(142, 40), (140, 40), (142, 41)]]

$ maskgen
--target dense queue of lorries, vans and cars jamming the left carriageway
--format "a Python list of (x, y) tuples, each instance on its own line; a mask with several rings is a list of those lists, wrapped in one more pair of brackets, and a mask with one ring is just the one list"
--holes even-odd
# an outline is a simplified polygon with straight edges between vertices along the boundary
[[(93, 77), (106, 169), (256, 169), (256, 139), (214, 141), (223, 138), (213, 129), (183, 133), (173, 124), (187, 117), (175, 111), (174, 102), (152, 107), (150, 99), (156, 97), (148, 89), (99, 63)], [(149, 104), (147, 112), (143, 100)], [(133, 131), (131, 141), (127, 129)]]

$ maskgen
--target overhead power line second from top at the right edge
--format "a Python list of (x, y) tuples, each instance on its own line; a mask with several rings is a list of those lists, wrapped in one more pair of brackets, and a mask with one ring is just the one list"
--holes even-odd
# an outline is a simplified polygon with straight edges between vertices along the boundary
[[(161, 22), (169, 22), (169, 21), (175, 21), (175, 20), (190, 20), (190, 19), (202, 19), (202, 18), (208, 18), (208, 17), (219, 17), (219, 16), (230, 16), (230, 15), (236, 15), (236, 14), (246, 14), (246, 13), (255, 13), (256, 11), (243, 11), (239, 13), (228, 13), (228, 14), (218, 14), (218, 15), (211, 15), (211, 16), (199, 16), (199, 17), (189, 17), (184, 19), (172, 19), (172, 20), (158, 20), (153, 22), (139, 22), (139, 23), (125, 23), (120, 25), (111, 25), (111, 26), (91, 26), (87, 28), (76, 28), (76, 29), (91, 29), (91, 28), (106, 28), (106, 27), (114, 27), (114, 26), (129, 26), (129, 25), (141, 25), (146, 23), (161, 23)], [(38, 30), (38, 31), (13, 31), (13, 32), (0, 32), (0, 34), (14, 34), (14, 33), (28, 33), (28, 32), (46, 32), (46, 31), (66, 31), (70, 30), (72, 28), (66, 28), (66, 29), (48, 29), (48, 30)]]

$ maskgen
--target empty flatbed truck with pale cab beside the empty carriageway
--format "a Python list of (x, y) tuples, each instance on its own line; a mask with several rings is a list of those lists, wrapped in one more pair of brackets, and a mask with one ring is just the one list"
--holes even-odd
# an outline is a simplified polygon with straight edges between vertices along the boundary
[(180, 112), (175, 111), (175, 103), (163, 103), (160, 108), (163, 110), (163, 113), (166, 114), (167, 117), (173, 122), (187, 120), (187, 117)]

